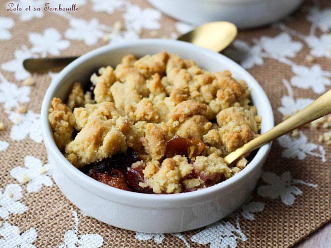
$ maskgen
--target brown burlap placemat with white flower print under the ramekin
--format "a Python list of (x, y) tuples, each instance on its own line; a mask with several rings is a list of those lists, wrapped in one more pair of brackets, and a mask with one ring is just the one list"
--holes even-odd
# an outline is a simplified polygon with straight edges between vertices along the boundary
[[(208, 227), (153, 235), (84, 215), (60, 192), (46, 164), (39, 112), (55, 74), (31, 76), (22, 61), (80, 55), (123, 39), (176, 38), (190, 27), (143, 0), (77, 0), (78, 11), (33, 11), (44, 8), (41, 2), (18, 1), (22, 11), (7, 11), (7, 1), (0, 6), (0, 247), (289, 247), (330, 220), (330, 146), (327, 135), (320, 137), (330, 131), (325, 123), (274, 141), (252, 198)], [(330, 87), (329, 32), (331, 3), (307, 1), (281, 24), (239, 32), (226, 54), (262, 85), (278, 123)]]

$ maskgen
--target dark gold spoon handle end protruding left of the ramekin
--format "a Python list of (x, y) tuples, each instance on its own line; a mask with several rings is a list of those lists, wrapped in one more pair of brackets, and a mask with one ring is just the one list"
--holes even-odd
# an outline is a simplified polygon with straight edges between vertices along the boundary
[(23, 66), (28, 72), (41, 73), (63, 68), (77, 58), (78, 57), (31, 58), (23, 61)]

